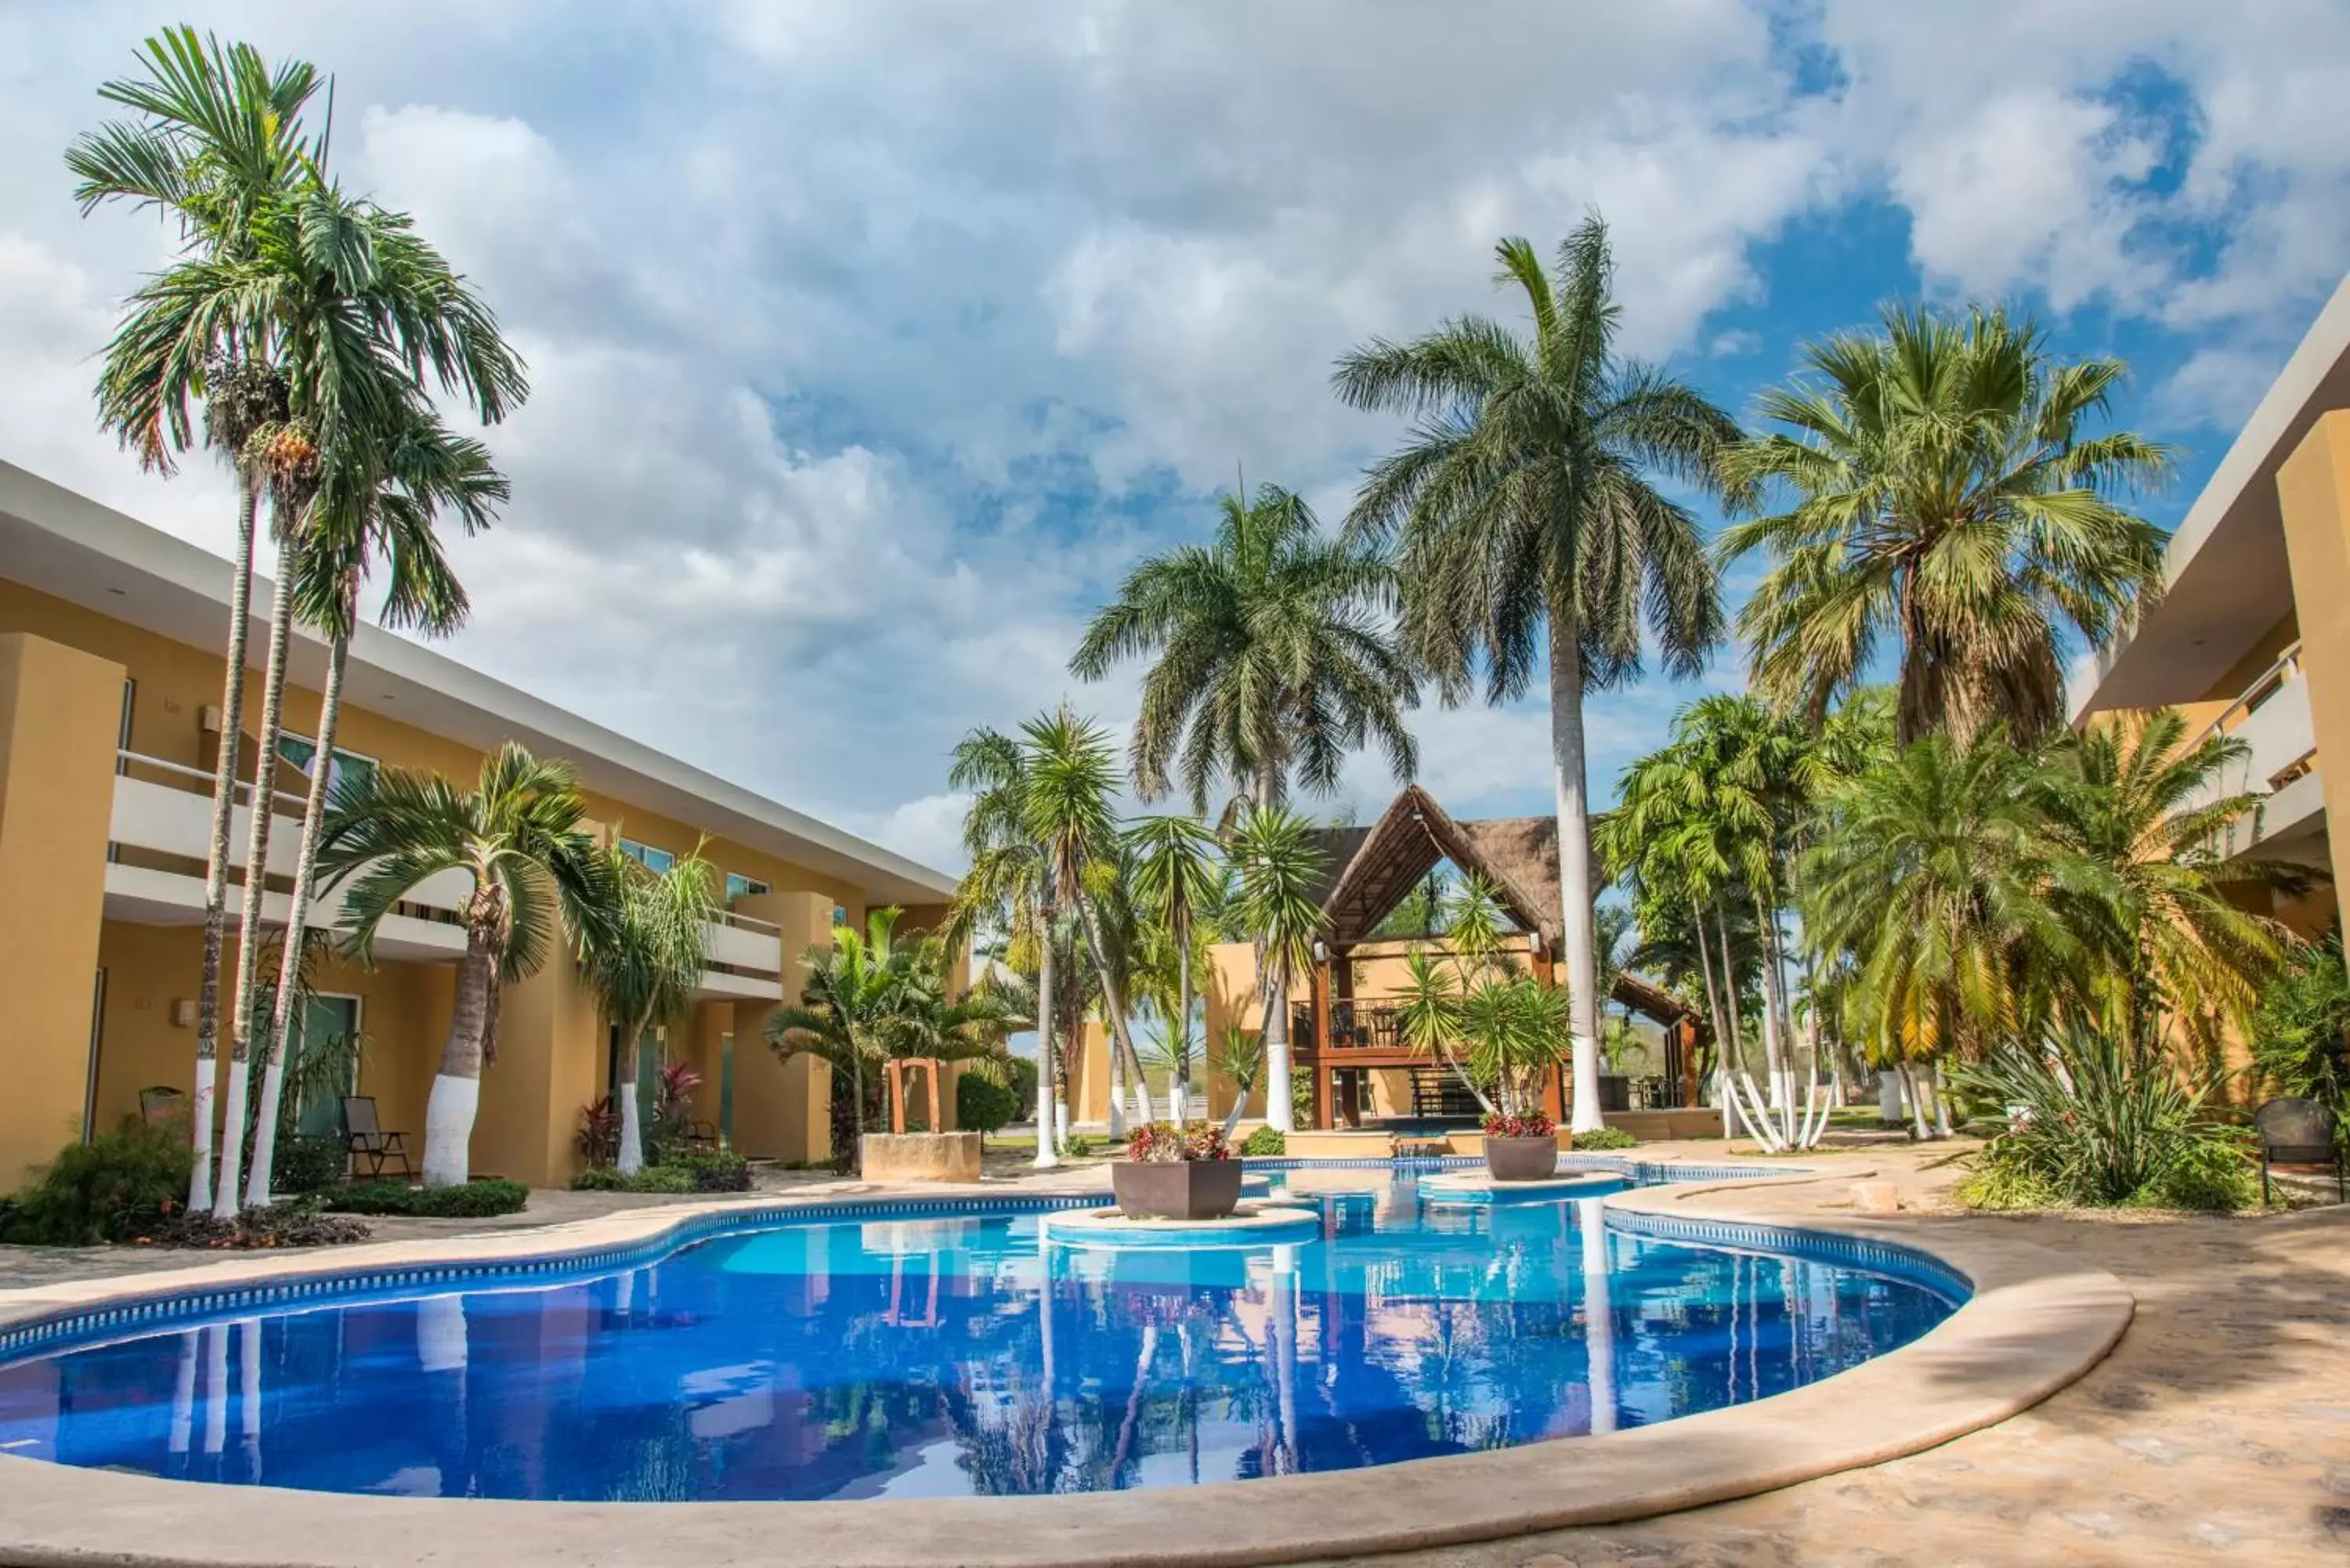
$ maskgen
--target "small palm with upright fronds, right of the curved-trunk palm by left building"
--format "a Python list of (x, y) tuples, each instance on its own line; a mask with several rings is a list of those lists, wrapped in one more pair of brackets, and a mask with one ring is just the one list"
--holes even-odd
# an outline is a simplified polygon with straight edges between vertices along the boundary
[(719, 912), (717, 872), (700, 846), (656, 872), (620, 849), (604, 846), (611, 917), (580, 933), (580, 978), (595, 992), (620, 1051), (620, 1173), (644, 1168), (644, 1105), (637, 1093), (637, 1053), (651, 1030), (677, 1023), (693, 1006), (710, 945), (707, 924)]

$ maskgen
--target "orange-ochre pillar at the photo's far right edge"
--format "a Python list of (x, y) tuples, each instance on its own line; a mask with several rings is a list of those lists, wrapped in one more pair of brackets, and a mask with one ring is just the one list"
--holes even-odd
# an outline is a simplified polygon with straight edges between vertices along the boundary
[(2350, 411), (2319, 418), (2277, 470), (2301, 616), (2334, 886), (2350, 886)]

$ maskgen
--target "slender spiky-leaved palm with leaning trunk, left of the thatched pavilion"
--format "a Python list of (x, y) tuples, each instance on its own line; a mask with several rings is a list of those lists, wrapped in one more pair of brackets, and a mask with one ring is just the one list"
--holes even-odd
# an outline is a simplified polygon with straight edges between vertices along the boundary
[[(1109, 804), (1119, 783), (1109, 736), (1100, 724), (1079, 719), (1069, 708), (1039, 715), (1020, 731), (1029, 752), (1022, 820), (1029, 837), (1046, 851), (1046, 877), (1053, 884), (1055, 903), (1076, 910), (1076, 924), (1102, 987), (1102, 1011), (1116, 1053), (1114, 1065), (1133, 1084), (1135, 1105), (1149, 1121), (1152, 1091), (1142, 1081), (1142, 1056), (1135, 1051), (1119, 966), (1112, 964), (1114, 954), (1102, 940), (1100, 919), (1102, 898), (1114, 893), (1121, 851), (1119, 823)], [(1119, 1131), (1116, 1124), (1126, 1110), (1121, 1100), (1123, 1095), (1114, 1091), (1109, 1100), (1112, 1133)]]

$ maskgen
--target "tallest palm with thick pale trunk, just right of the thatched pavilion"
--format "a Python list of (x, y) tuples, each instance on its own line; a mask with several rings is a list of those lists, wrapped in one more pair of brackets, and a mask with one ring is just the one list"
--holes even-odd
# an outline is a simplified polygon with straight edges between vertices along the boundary
[(1375, 463), (1349, 527), (1394, 541), (1403, 644), (1462, 701), (1478, 670), (1504, 703), (1549, 654), (1563, 959), (1574, 999), (1572, 1131), (1596, 1131), (1598, 964), (1591, 936), (1591, 811), (1584, 693), (1640, 672), (1643, 623), (1666, 670), (1697, 675), (1723, 609), (1697, 520), (1650, 473), (1711, 484), (1739, 430), (1671, 376), (1624, 362), (1607, 228), (1586, 219), (1556, 277), (1525, 240), (1499, 244), (1532, 339), (1464, 315), (1410, 343), (1375, 339), (1340, 360), (1340, 397), (1412, 416)]

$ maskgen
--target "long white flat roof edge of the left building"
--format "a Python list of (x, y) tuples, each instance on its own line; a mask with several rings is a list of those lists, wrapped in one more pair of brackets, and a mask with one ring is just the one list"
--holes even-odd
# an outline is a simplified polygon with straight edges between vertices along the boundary
[[(230, 590), (223, 557), (7, 461), (0, 461), (0, 574), (197, 649), (223, 646)], [(254, 618), (254, 668), (266, 654), (268, 602), (270, 588), (256, 578), (254, 604), (263, 616)], [(327, 675), (327, 644), (298, 632), (289, 668), (294, 682), (317, 691)], [(533, 752), (569, 757), (597, 795), (839, 877), (872, 903), (924, 905), (954, 893), (947, 872), (639, 745), (378, 625), (360, 625), (348, 670), (345, 679), (369, 693), (355, 696), (355, 708), (482, 752), (519, 741)]]

